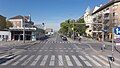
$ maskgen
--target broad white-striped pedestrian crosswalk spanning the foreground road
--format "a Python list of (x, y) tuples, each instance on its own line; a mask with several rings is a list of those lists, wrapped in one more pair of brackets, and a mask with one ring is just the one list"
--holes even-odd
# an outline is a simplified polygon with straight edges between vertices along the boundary
[[(109, 66), (107, 57), (103, 55), (17, 55), (0, 66)], [(113, 62), (114, 66), (120, 66), (120, 63)]]

